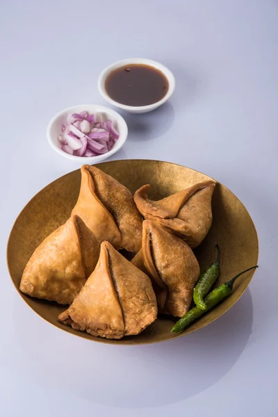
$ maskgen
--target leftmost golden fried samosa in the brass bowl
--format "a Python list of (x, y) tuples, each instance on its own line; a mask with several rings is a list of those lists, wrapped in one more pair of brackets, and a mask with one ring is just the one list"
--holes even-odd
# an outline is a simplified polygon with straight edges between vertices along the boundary
[(73, 215), (37, 247), (24, 269), (20, 291), (70, 304), (95, 269), (99, 250), (95, 235)]

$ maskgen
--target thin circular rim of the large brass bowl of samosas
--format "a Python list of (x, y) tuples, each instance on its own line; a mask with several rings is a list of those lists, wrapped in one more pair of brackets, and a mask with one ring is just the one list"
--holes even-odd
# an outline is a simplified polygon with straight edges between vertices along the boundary
[[(146, 159), (142, 159), (142, 158), (131, 158), (131, 159), (124, 159), (124, 160), (121, 160), (121, 159), (119, 159), (119, 160), (115, 160), (115, 161), (106, 161), (106, 162), (102, 162), (101, 164), (107, 164), (107, 163), (113, 163), (113, 162), (116, 162), (116, 161), (149, 161), (149, 162), (155, 162), (155, 163), (169, 163), (169, 164), (171, 164), (171, 165), (178, 165), (178, 166), (180, 166), (180, 167), (186, 167), (185, 165), (181, 165), (181, 164), (178, 164), (178, 163), (174, 163), (174, 162), (169, 162), (169, 161), (159, 161), (159, 160), (156, 160), (156, 159), (149, 159), (149, 160), (146, 160)], [(195, 170), (195, 169), (193, 169), (193, 168), (190, 168), (190, 167), (186, 167), (186, 168), (188, 168), (188, 169), (190, 169), (190, 170), (192, 170), (192, 171), (194, 171), (194, 172), (197, 172), (197, 173), (199, 173), (199, 174), (203, 174), (203, 175), (206, 175), (207, 177), (209, 177), (209, 178), (211, 178), (211, 179), (213, 179), (212, 177), (210, 177), (209, 175), (207, 175), (207, 174), (204, 174), (203, 172), (201, 172), (201, 171), (198, 171), (198, 170)], [(99, 167), (99, 169), (101, 169), (101, 167)], [(46, 322), (48, 322), (49, 323), (49, 325), (52, 325), (52, 326), (54, 326), (54, 327), (58, 327), (58, 326), (56, 326), (56, 325), (54, 325), (54, 323), (52, 323), (52, 322), (50, 322), (49, 320), (47, 320), (47, 318), (44, 318), (44, 317), (42, 317), (42, 316), (40, 316), (40, 314), (38, 313), (38, 311), (35, 311), (34, 309), (33, 309), (33, 307), (32, 306), (30, 306), (30, 304), (28, 304), (28, 302), (26, 301), (26, 299), (24, 298), (24, 295), (22, 294), (22, 292), (19, 290), (19, 288), (17, 288), (17, 286), (15, 285), (15, 282), (13, 281), (13, 277), (12, 277), (12, 275), (11, 275), (11, 272), (10, 272), (10, 265), (9, 265), (9, 263), (8, 263), (8, 248), (9, 248), (9, 245), (10, 245), (10, 238), (11, 238), (11, 235), (12, 235), (12, 232), (13, 232), (13, 228), (15, 227), (15, 223), (17, 222), (17, 220), (19, 219), (19, 217), (20, 217), (20, 215), (22, 215), (22, 213), (23, 213), (23, 211), (25, 210), (25, 208), (26, 208), (26, 206), (29, 204), (29, 203), (31, 203), (32, 201), (33, 201), (33, 199), (35, 199), (35, 197), (37, 197), (37, 195), (42, 191), (42, 190), (44, 190), (44, 188), (47, 188), (47, 187), (49, 187), (49, 186), (51, 186), (51, 184), (52, 183), (54, 183), (55, 181), (57, 181), (58, 179), (62, 179), (63, 177), (67, 177), (67, 176), (69, 176), (70, 174), (72, 174), (72, 172), (74, 172), (74, 171), (78, 171), (79, 169), (77, 169), (77, 170), (72, 170), (71, 172), (67, 172), (67, 174), (64, 174), (64, 175), (62, 175), (61, 177), (58, 177), (58, 178), (56, 178), (56, 179), (54, 179), (54, 181), (51, 181), (49, 184), (47, 184), (47, 186), (44, 186), (41, 190), (39, 190), (38, 191), (38, 193), (35, 193), (35, 195), (25, 204), (25, 206), (22, 208), (22, 210), (19, 212), (19, 214), (17, 215), (17, 217), (15, 218), (15, 221), (13, 222), (13, 227), (12, 227), (12, 229), (10, 230), (10, 234), (9, 234), (9, 236), (8, 236), (8, 241), (7, 241), (7, 247), (6, 247), (6, 263), (7, 263), (7, 267), (8, 267), (8, 272), (9, 272), (9, 275), (10, 275), (10, 279), (11, 279), (11, 281), (12, 281), (12, 283), (13, 283), (13, 286), (14, 286), (14, 288), (15, 288), (15, 290), (17, 291), (17, 293), (19, 293), (19, 295), (20, 295), (20, 297), (22, 298), (22, 300), (26, 303), (26, 305), (30, 308), (30, 309), (32, 309), (42, 320), (44, 320), (44, 321), (46, 321)], [(215, 180), (215, 179), (213, 179), (213, 181), (215, 181), (216, 183), (218, 183), (219, 181), (217, 181), (217, 180)], [(231, 193), (231, 195), (234, 195), (234, 197), (236, 197), (236, 195), (229, 189), (229, 188), (227, 188), (226, 186), (224, 186), (222, 183), (220, 183), (221, 184), (221, 186), (222, 187), (224, 187), (224, 188), (226, 188), (228, 191), (229, 191), (229, 193)], [(254, 221), (252, 220), (252, 217), (251, 217), (251, 215), (250, 215), (250, 213), (249, 213), (249, 211), (247, 211), (247, 208), (245, 207), (245, 204), (243, 204), (243, 202), (241, 202), (241, 200), (238, 198), (238, 197), (236, 197), (236, 199), (238, 199), (239, 200), (239, 202), (240, 202), (240, 204), (242, 204), (243, 205), (243, 207), (245, 208), (245, 211), (246, 211), (246, 213), (247, 213), (247, 215), (249, 216), (249, 218), (250, 218), (250, 220), (251, 220), (251, 222), (252, 222), (252, 225), (253, 225), (253, 227), (254, 227), (254, 231), (255, 231), (255, 235), (256, 235), (256, 247), (257, 247), (257, 253), (256, 253), (256, 265), (258, 265), (258, 261), (259, 261), (259, 238), (258, 238), (258, 232), (257, 232), (257, 230), (256, 230), (256, 227), (255, 227), (255, 224), (254, 224)], [(206, 327), (206, 326), (208, 326), (208, 325), (210, 325), (212, 322), (214, 322), (215, 320), (218, 320), (218, 318), (220, 318), (220, 317), (222, 317), (223, 315), (224, 315), (224, 313), (227, 313), (227, 311), (229, 311), (229, 309), (231, 309), (235, 304), (236, 304), (236, 302), (238, 302), (238, 300), (240, 300), (240, 298), (242, 297), (242, 295), (243, 295), (243, 293), (245, 293), (245, 291), (247, 290), (247, 288), (248, 288), (248, 286), (250, 285), (250, 282), (252, 281), (252, 279), (253, 279), (253, 277), (254, 277), (254, 273), (255, 273), (255, 271), (256, 271), (256, 269), (254, 269), (254, 270), (251, 270), (250, 271), (250, 279), (249, 279), (249, 281), (248, 281), (248, 283), (247, 283), (247, 285), (245, 286), (245, 288), (243, 288), (243, 290), (240, 292), (240, 294), (238, 295), (238, 298), (236, 299), (236, 300), (234, 300), (234, 302), (231, 304), (231, 306), (229, 306), (229, 308), (228, 309), (226, 309), (226, 310), (224, 310), (224, 311), (222, 311), (222, 313), (220, 313), (220, 316), (217, 316), (217, 317), (215, 317), (215, 318), (213, 318), (210, 322), (205, 322), (201, 327), (198, 327), (197, 329), (195, 328), (195, 327), (192, 327), (192, 326), (190, 326), (185, 332), (182, 332), (182, 333), (175, 333), (174, 334), (174, 336), (172, 337), (172, 338), (170, 338), (170, 339), (167, 339), (167, 340), (163, 340), (163, 341), (146, 341), (146, 342), (143, 342), (143, 343), (134, 343), (134, 341), (129, 341), (128, 339), (126, 339), (125, 340), (125, 342), (124, 343), (115, 343), (115, 339), (112, 339), (112, 340), (110, 340), (110, 339), (104, 339), (104, 338), (101, 338), (101, 337), (99, 337), (99, 338), (94, 338), (94, 339), (90, 339), (90, 338), (85, 338), (84, 336), (83, 336), (83, 332), (76, 332), (76, 333), (71, 333), (71, 332), (69, 332), (68, 330), (67, 330), (67, 326), (64, 326), (64, 327), (58, 327), (58, 329), (61, 329), (61, 330), (63, 330), (63, 332), (66, 332), (67, 334), (70, 334), (71, 336), (78, 336), (78, 337), (80, 337), (80, 338), (83, 338), (83, 340), (85, 340), (85, 341), (88, 341), (88, 342), (90, 342), (90, 341), (95, 341), (95, 342), (97, 342), (97, 343), (103, 343), (103, 344), (106, 344), (106, 345), (122, 345), (122, 346), (138, 346), (138, 345), (152, 345), (152, 344), (156, 344), (156, 343), (165, 343), (165, 342), (170, 342), (170, 341), (173, 341), (174, 339), (176, 339), (176, 338), (179, 338), (179, 337), (183, 337), (183, 336), (186, 336), (187, 334), (190, 334), (190, 333), (193, 333), (193, 332), (197, 332), (197, 330), (200, 330), (200, 329), (202, 329), (203, 327)], [(80, 334), (79, 334), (80, 333)]]

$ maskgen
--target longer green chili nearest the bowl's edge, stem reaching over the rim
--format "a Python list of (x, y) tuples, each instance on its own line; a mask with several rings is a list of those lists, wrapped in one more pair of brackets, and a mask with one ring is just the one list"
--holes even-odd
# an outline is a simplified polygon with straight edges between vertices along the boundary
[(204, 302), (206, 303), (206, 309), (202, 310), (199, 307), (195, 306), (193, 309), (189, 310), (182, 318), (180, 318), (177, 323), (172, 328), (171, 332), (174, 333), (181, 333), (183, 332), (186, 327), (191, 325), (197, 318), (202, 316), (206, 311), (213, 309), (214, 306), (219, 304), (224, 298), (229, 297), (233, 291), (234, 281), (240, 275), (245, 274), (245, 272), (250, 271), (254, 268), (258, 268), (258, 265), (252, 266), (243, 272), (240, 272), (234, 278), (230, 279), (229, 281), (224, 282), (224, 284), (220, 285), (218, 288), (215, 288), (213, 291), (206, 295)]

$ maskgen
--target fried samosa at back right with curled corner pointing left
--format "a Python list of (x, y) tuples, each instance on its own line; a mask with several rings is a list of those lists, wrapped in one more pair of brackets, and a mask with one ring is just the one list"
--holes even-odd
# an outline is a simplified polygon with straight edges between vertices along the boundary
[(211, 197), (215, 182), (197, 183), (156, 202), (148, 199), (149, 188), (149, 185), (142, 186), (134, 194), (142, 216), (172, 230), (190, 247), (197, 247), (206, 237), (213, 220)]

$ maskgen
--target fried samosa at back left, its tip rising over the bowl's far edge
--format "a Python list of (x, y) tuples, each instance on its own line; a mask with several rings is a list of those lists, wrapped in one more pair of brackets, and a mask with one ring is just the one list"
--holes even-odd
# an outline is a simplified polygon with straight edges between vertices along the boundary
[(80, 193), (72, 214), (83, 219), (99, 243), (108, 240), (115, 249), (140, 250), (142, 219), (131, 192), (96, 167), (81, 167)]

